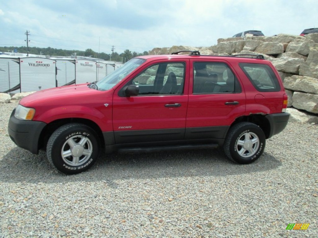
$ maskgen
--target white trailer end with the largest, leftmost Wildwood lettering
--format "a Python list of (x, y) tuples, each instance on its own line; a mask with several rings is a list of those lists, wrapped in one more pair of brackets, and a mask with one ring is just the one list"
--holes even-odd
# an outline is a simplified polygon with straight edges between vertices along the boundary
[(20, 83), (21, 92), (55, 88), (55, 60), (38, 57), (20, 58)]

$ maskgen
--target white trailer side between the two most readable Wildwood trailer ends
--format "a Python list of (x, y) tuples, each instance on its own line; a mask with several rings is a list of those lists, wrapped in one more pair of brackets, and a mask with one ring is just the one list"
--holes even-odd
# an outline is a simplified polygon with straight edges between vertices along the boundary
[[(52, 58), (51, 58), (52, 59)], [(56, 58), (57, 86), (71, 85), (75, 83), (75, 60)]]

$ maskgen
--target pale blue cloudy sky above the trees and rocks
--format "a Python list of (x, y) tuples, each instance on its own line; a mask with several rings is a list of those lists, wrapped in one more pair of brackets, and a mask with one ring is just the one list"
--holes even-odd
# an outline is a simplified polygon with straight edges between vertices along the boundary
[(138, 53), (318, 27), (317, 0), (0, 0), (0, 46)]

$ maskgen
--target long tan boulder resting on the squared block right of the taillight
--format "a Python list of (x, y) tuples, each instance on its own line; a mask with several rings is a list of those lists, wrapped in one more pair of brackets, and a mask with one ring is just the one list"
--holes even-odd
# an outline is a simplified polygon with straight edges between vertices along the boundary
[(284, 87), (285, 89), (290, 89), (293, 91), (318, 94), (318, 79), (307, 76), (293, 75), (291, 77), (285, 78)]

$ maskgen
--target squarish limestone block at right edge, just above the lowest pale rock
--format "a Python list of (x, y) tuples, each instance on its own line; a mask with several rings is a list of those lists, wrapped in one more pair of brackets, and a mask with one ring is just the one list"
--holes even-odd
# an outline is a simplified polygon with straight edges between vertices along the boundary
[(293, 107), (318, 114), (318, 95), (294, 92)]

